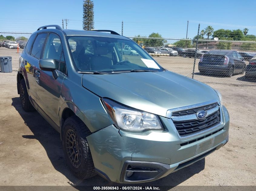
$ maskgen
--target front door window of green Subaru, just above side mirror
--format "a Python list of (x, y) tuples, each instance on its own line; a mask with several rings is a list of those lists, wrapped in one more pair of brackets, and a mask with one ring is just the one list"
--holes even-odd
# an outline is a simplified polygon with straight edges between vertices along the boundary
[[(56, 64), (56, 69), (59, 70), (61, 56), (62, 56), (62, 44), (61, 44), (60, 38), (57, 35), (51, 33), (49, 34), (48, 40), (45, 45), (43, 59), (46, 59), (46, 58), (54, 59)], [(65, 59), (64, 59), (64, 62), (65, 62)]]

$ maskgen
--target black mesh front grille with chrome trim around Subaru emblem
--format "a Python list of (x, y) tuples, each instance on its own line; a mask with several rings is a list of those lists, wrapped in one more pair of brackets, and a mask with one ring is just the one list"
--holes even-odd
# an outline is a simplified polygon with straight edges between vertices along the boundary
[[(205, 119), (198, 119), (196, 117), (196, 113), (199, 110), (208, 111), (208, 116)], [(188, 136), (192, 135), (195, 132), (218, 125), (221, 122), (220, 108), (218, 106), (218, 103), (213, 103), (203, 107), (178, 111), (172, 113), (172, 120), (179, 135)]]

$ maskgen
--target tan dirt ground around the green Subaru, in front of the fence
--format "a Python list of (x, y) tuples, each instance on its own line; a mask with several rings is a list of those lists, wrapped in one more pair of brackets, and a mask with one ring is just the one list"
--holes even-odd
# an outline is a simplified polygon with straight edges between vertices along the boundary
[[(221, 92), (229, 111), (229, 142), (205, 159), (141, 186), (256, 185), (256, 86), (208, 85)], [(37, 112), (22, 110), (16, 72), (0, 73), (0, 90), (0, 186), (115, 185), (99, 176), (78, 180), (72, 175), (58, 132)]]

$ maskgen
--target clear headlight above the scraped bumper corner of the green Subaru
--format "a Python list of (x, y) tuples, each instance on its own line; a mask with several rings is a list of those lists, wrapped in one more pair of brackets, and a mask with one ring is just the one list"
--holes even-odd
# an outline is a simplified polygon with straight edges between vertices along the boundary
[(108, 98), (102, 98), (108, 115), (115, 126), (125, 131), (142, 132), (163, 130), (158, 116), (121, 105)]

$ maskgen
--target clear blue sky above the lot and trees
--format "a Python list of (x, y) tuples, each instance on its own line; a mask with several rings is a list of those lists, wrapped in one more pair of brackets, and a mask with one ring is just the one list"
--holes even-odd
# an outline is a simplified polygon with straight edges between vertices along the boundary
[[(217, 29), (249, 29), (256, 35), (256, 1), (215, 0), (93, 0), (95, 29), (121, 31), (124, 36), (148, 36), (152, 32), (165, 38), (185, 38), (197, 34), (207, 25)], [(1, 2), (0, 32), (34, 32), (48, 24), (62, 25), (69, 19), (68, 29), (82, 29), (82, 0), (5, 0)], [(10, 11), (5, 10), (8, 8)], [(8, 14), (11, 12), (11, 14)], [(216, 24), (217, 23), (217, 24)]]

